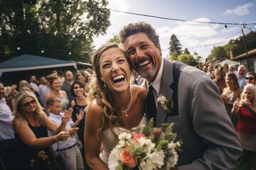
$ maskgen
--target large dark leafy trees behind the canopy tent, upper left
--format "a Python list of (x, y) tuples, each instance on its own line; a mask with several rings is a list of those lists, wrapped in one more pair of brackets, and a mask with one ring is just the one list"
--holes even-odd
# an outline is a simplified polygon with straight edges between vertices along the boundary
[(0, 55), (4, 60), (26, 53), (90, 62), (92, 38), (104, 35), (110, 26), (107, 0), (28, 2), (1, 1), (10, 7), (0, 16), (0, 42), (5, 42), (0, 45)]

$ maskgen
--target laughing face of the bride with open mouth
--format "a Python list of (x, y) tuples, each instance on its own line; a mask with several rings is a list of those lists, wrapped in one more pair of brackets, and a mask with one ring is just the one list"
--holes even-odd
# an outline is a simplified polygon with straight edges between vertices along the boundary
[(129, 87), (131, 70), (124, 53), (117, 47), (102, 52), (99, 60), (101, 79), (110, 91), (125, 91)]

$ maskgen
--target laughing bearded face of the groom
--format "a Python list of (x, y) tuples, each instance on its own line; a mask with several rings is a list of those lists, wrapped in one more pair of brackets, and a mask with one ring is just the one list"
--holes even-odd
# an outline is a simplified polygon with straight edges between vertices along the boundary
[(124, 40), (124, 47), (132, 68), (153, 82), (161, 66), (160, 45), (154, 45), (145, 33), (135, 33)]

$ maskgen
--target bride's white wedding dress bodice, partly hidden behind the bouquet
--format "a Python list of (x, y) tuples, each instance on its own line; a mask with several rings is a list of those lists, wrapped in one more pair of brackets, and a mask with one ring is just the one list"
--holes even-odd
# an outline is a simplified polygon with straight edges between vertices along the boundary
[[(143, 116), (141, 122), (139, 123), (140, 125), (146, 125), (147, 120), (146, 120), (146, 115)], [(124, 128), (114, 128), (114, 132), (119, 135), (122, 132), (130, 132), (127, 129)], [(112, 149), (117, 145), (117, 140), (115, 139), (114, 135), (112, 134), (110, 129), (104, 130), (102, 132), (102, 147), (103, 147), (103, 152), (100, 154), (100, 158), (102, 159), (105, 164), (107, 164), (108, 159), (110, 157), (110, 152)]]

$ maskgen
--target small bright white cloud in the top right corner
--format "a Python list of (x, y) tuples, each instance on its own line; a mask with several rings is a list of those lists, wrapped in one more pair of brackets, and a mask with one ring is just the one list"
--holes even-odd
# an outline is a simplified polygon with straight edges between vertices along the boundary
[(237, 6), (236, 8), (233, 9), (227, 9), (223, 15), (235, 15), (235, 16), (244, 16), (248, 13), (250, 13), (249, 8), (251, 6), (254, 6), (252, 3), (247, 3), (243, 6)]

